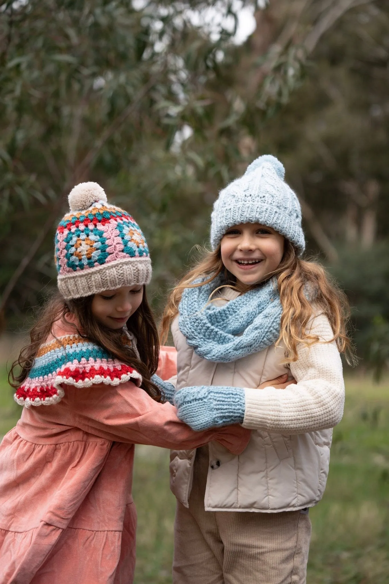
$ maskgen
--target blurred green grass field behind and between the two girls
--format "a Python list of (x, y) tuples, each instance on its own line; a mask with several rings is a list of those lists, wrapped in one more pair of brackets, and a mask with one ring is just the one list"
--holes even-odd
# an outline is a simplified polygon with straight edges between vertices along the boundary
[[(0, 433), (20, 409), (0, 376)], [(174, 497), (169, 453), (136, 448), (134, 499), (138, 508), (136, 584), (168, 584), (173, 552)], [(308, 584), (389, 584), (389, 380), (346, 381), (346, 408), (334, 430), (331, 467), (313, 523)]]

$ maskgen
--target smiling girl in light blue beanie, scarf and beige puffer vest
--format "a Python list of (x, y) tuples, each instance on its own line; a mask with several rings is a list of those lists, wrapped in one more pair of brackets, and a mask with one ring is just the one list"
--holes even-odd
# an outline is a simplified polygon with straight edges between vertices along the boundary
[(261, 156), (223, 189), (211, 246), (170, 295), (177, 379), (193, 429), (240, 423), (239, 456), (216, 442), (171, 453), (174, 584), (306, 582), (309, 507), (323, 496), (342, 418), (346, 299), (301, 259), (302, 217), (284, 168)]

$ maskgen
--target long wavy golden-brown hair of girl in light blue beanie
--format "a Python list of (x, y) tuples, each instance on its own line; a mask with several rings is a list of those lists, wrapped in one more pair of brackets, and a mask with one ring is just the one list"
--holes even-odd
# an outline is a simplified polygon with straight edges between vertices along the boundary
[[(208, 284), (221, 273), (225, 284), (240, 292), (263, 283), (242, 289), (236, 277), (223, 264), (220, 245), (213, 252), (204, 250), (202, 259), (170, 293), (160, 326), (162, 344), (166, 342), (171, 322), (178, 314), (178, 304), (184, 289)], [(323, 312), (334, 333), (328, 342), (335, 341), (339, 352), (345, 354), (346, 361), (351, 365), (356, 364), (355, 350), (347, 332), (350, 316), (348, 298), (324, 267), (313, 260), (299, 258), (296, 247), (285, 239), (281, 263), (274, 272), (267, 274), (267, 279), (271, 277), (276, 278), (282, 305), (281, 328), (276, 345), (281, 341), (284, 343), (285, 362), (297, 361), (299, 343), (311, 345), (320, 342), (318, 336), (310, 335), (308, 324), (314, 314)], [(202, 279), (201, 283), (194, 283), (198, 279)]]

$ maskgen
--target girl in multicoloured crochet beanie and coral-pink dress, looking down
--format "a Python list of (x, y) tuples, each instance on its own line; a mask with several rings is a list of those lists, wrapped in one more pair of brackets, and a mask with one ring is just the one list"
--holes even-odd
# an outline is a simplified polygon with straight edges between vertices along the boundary
[(219, 440), (234, 455), (250, 437), (238, 425), (195, 432), (162, 403), (142, 231), (96, 183), (69, 203), (55, 235), (59, 293), (12, 369), (24, 408), (0, 445), (1, 584), (131, 584), (134, 444)]

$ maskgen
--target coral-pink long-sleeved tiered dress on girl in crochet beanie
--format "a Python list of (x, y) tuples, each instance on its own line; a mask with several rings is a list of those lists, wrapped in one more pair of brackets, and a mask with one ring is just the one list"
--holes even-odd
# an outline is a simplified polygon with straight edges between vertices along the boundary
[[(53, 331), (75, 341), (73, 332), (63, 324)], [(47, 346), (55, 343), (51, 336)], [(193, 432), (174, 406), (158, 404), (132, 381), (112, 384), (115, 366), (103, 359), (97, 371), (96, 361), (80, 353), (59, 364), (55, 379), (40, 378), (49, 396), (41, 401), (49, 405), (23, 408), (3, 438), (1, 584), (131, 584), (134, 444), (192, 449), (218, 440), (234, 454), (246, 447), (250, 433), (240, 426)], [(27, 385), (19, 397), (26, 404), (27, 395), (38, 395), (36, 385)]]

